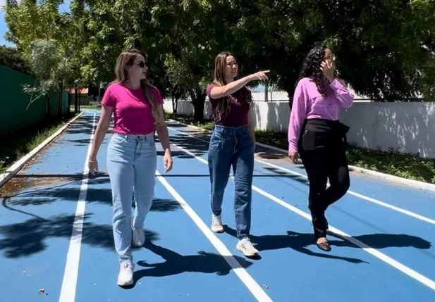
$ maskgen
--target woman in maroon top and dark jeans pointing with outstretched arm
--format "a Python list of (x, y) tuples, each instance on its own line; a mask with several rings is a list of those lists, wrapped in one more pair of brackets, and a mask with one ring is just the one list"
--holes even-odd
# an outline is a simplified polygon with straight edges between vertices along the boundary
[(232, 166), (235, 225), (239, 239), (236, 248), (247, 257), (257, 256), (258, 251), (249, 239), (255, 136), (250, 118), (252, 96), (245, 85), (252, 80), (267, 80), (266, 73), (268, 71), (258, 72), (237, 80), (238, 64), (235, 58), (223, 52), (216, 56), (214, 82), (207, 87), (215, 124), (208, 154), (212, 183), (212, 231), (223, 232), (221, 205)]

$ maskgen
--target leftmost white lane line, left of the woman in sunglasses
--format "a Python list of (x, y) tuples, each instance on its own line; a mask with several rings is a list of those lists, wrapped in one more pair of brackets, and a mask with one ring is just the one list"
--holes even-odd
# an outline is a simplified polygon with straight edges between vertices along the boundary
[(82, 183), (80, 185), (80, 195), (78, 197), (77, 207), (75, 208), (73, 234), (71, 234), (70, 246), (68, 248), (68, 254), (66, 256), (65, 272), (63, 272), (63, 282), (61, 287), (61, 294), (59, 296), (59, 302), (75, 301), (75, 289), (77, 287), (78, 278), (78, 265), (80, 262), (80, 248), (82, 246), (83, 221), (85, 219), (87, 182), (89, 180), (89, 169), (87, 168), (87, 161), (90, 156), (92, 141), (94, 140), (96, 116), (96, 113), (94, 113), (94, 120), (92, 122), (91, 130), (92, 132), (89, 146), (87, 148)]

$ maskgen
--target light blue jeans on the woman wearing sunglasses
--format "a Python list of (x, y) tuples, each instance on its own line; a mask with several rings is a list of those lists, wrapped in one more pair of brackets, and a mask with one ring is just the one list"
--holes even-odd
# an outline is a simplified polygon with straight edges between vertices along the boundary
[[(156, 169), (154, 133), (112, 135), (107, 148), (107, 170), (112, 191), (115, 249), (120, 262), (133, 262), (132, 227), (143, 227), (152, 206)], [(136, 204), (133, 224), (132, 194)]]

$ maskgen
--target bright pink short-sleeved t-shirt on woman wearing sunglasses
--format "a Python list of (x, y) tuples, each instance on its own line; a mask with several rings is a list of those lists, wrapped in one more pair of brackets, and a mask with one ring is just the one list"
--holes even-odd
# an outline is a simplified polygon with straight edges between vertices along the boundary
[[(151, 86), (158, 105), (164, 103), (159, 90)], [(148, 134), (154, 132), (151, 104), (142, 88), (129, 89), (122, 84), (111, 84), (104, 93), (102, 104), (114, 108), (114, 132), (121, 134)]]

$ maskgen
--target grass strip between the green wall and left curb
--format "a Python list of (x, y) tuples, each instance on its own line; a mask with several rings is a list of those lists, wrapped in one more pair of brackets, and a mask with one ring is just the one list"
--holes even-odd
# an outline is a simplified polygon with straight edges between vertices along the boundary
[[(46, 120), (39, 125), (0, 137), (0, 141), (7, 141), (7, 144), (0, 146), (0, 173), (4, 173), (6, 168), (35, 149), (75, 115), (77, 114), (72, 112), (70, 115), (63, 116), (61, 120)], [(11, 139), (12, 137), (13, 139)]]

